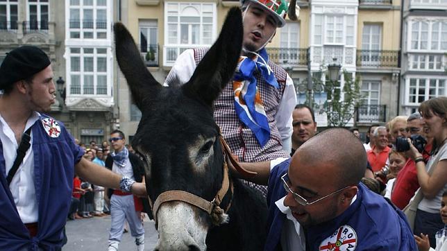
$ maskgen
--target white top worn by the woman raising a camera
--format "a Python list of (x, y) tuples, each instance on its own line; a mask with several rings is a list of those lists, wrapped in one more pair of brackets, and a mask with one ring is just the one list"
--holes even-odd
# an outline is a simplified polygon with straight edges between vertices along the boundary
[[(432, 155), (432, 157), (430, 157), (427, 162), (427, 166), (425, 166), (427, 171), (429, 171), (430, 168), (436, 168), (436, 164), (433, 162), (435, 162), (435, 159), (437, 159), (438, 156), (440, 156), (439, 161), (447, 159), (447, 143), (444, 143), (444, 145), (441, 146), (441, 149), (439, 149), (439, 152), (436, 155)], [(446, 190), (447, 184), (444, 184), (444, 187), (439, 190), (435, 198), (428, 200), (424, 197), (419, 203), (418, 209), (426, 211), (430, 214), (439, 214), (439, 209), (441, 208), (442, 193), (444, 193), (444, 191)]]

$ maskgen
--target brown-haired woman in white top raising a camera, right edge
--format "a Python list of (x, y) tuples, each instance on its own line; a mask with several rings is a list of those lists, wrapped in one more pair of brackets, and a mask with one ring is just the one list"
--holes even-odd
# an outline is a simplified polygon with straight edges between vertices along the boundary
[[(428, 137), (433, 137), (432, 156), (423, 162), (423, 155), (410, 143), (407, 155), (416, 163), (417, 178), (423, 199), (419, 202), (414, 221), (414, 234), (428, 234), (430, 245), (435, 248), (435, 234), (444, 227), (438, 213), (441, 199), (447, 190), (447, 97), (432, 98), (419, 106)], [(430, 171), (431, 174), (428, 173)]]

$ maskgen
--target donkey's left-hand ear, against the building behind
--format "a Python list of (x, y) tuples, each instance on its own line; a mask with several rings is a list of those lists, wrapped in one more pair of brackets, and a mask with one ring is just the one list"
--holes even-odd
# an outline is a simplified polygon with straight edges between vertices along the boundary
[(147, 70), (140, 51), (124, 24), (115, 23), (113, 29), (119, 68), (126, 77), (135, 105), (144, 110), (146, 101), (153, 99), (162, 86)]

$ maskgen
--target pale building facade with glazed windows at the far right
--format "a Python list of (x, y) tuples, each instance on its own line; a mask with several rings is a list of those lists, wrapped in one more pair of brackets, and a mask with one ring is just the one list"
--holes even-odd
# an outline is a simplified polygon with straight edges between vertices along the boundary
[(421, 102), (447, 95), (447, 1), (405, 1), (402, 48), (399, 110), (411, 114)]

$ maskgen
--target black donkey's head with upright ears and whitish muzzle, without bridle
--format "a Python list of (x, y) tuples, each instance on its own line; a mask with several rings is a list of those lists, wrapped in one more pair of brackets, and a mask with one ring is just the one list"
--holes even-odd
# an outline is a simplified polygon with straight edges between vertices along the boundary
[[(162, 87), (151, 76), (126, 28), (115, 24), (117, 61), (142, 119), (132, 145), (142, 155), (151, 201), (166, 191), (187, 191), (212, 200), (223, 180), (219, 128), (213, 102), (233, 76), (242, 47), (242, 15), (228, 12), (218, 40), (188, 83)], [(221, 207), (230, 202), (230, 191)], [(162, 203), (154, 211), (159, 241), (156, 250), (205, 250), (210, 215), (181, 201)]]

